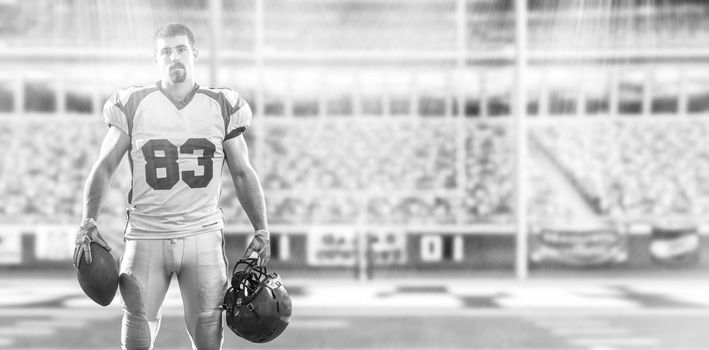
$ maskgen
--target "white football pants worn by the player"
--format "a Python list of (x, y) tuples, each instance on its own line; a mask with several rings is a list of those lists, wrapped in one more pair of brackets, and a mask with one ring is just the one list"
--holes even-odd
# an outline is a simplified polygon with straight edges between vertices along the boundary
[(153, 348), (173, 274), (180, 285), (192, 348), (221, 349), (219, 307), (227, 290), (228, 271), (224, 235), (217, 230), (177, 239), (126, 240), (119, 280), (124, 350)]

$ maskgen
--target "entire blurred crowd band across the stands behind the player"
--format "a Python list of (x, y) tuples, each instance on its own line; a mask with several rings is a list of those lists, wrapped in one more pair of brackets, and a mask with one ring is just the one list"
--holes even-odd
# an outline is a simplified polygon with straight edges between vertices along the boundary
[[(511, 223), (511, 128), (469, 119), (271, 119), (249, 132), (249, 142), (274, 224)], [(702, 147), (709, 121), (584, 119), (531, 131), (601, 217), (709, 210), (709, 153)], [(75, 223), (104, 132), (90, 119), (0, 122), (0, 221)], [(527, 163), (532, 217), (568, 214), (534, 157)], [(102, 214), (114, 218), (126, 206), (125, 160), (119, 172)], [(229, 224), (248, 224), (228, 176), (221, 206)]]

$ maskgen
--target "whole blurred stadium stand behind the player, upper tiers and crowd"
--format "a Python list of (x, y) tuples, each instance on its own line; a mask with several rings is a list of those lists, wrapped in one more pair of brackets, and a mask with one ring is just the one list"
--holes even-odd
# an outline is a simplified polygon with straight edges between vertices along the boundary
[[(274, 225), (444, 232), (450, 259), (453, 235), (512, 236), (510, 1), (268, 0), (262, 12), (257, 1), (220, 2), (215, 83), (255, 112), (246, 135)], [(159, 24), (190, 25), (210, 59), (209, 3), (0, 2), (1, 225), (76, 223), (103, 102), (150, 83)], [(530, 222), (577, 215), (550, 167), (601, 219), (699, 219), (709, 7), (530, 4)], [(119, 171), (102, 214), (112, 222), (129, 187)], [(222, 199), (231, 228), (248, 230), (229, 180)]]

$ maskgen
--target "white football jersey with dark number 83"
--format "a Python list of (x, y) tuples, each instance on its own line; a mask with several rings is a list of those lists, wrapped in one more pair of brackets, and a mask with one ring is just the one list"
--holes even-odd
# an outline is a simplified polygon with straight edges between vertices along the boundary
[(173, 101), (158, 82), (119, 90), (103, 115), (131, 139), (126, 238), (179, 238), (224, 227), (222, 142), (251, 122), (251, 108), (238, 93), (195, 85), (183, 101)]

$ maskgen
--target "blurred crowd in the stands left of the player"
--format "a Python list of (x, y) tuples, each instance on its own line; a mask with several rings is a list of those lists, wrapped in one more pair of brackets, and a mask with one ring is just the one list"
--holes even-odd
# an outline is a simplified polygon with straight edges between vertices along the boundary
[[(101, 126), (92, 121), (0, 123), (0, 219), (46, 223), (80, 219), (83, 184), (98, 155), (105, 130)], [(117, 180), (111, 192), (125, 188), (126, 182)], [(104, 211), (116, 215), (122, 209), (107, 205)]]

